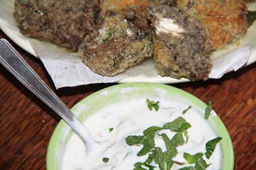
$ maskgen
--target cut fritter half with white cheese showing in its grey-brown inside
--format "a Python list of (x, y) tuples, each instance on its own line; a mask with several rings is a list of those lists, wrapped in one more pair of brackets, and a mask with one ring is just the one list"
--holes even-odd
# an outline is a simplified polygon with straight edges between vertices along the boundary
[(211, 70), (212, 47), (200, 21), (179, 9), (158, 6), (150, 12), (154, 59), (161, 76), (206, 80)]

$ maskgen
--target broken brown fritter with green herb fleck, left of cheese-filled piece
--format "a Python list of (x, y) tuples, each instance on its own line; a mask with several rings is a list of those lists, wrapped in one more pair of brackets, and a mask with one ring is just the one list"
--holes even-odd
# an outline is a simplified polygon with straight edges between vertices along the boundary
[(88, 35), (81, 47), (82, 61), (94, 72), (115, 76), (151, 57), (151, 35), (137, 27), (122, 12), (110, 12)]

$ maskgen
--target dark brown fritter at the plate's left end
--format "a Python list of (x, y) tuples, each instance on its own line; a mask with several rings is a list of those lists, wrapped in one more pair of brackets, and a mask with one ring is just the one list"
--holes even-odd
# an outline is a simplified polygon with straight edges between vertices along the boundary
[(94, 30), (99, 7), (92, 0), (16, 0), (14, 17), (22, 34), (77, 52)]

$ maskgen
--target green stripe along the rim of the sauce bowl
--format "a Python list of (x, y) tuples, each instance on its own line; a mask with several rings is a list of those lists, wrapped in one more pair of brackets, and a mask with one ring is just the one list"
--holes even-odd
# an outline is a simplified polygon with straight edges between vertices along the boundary
[[(113, 100), (114, 102), (118, 101), (118, 94), (121, 93), (121, 90), (124, 88), (133, 88), (131, 90), (131, 94), (129, 95), (140, 95), (145, 93), (151, 93), (151, 91), (155, 89), (162, 89), (166, 90), (169, 95), (179, 95), (181, 98), (188, 99), (191, 103), (194, 105), (205, 109), (206, 104), (203, 103), (200, 99), (196, 98), (194, 95), (189, 94), (181, 89), (178, 89), (176, 87), (164, 85), (164, 84), (156, 84), (156, 83), (125, 83), (125, 84), (118, 84), (114, 85), (108, 88), (104, 88), (102, 90), (99, 90), (89, 96), (87, 98), (84, 98), (79, 103), (77, 103), (74, 107), (72, 107), (72, 112), (79, 116), (81, 114), (81, 107), (89, 104), (93, 105), (95, 101), (106, 101), (106, 100)], [(105, 91), (108, 91), (108, 94), (104, 94)], [(117, 99), (117, 100), (116, 100)], [(96, 109), (99, 109), (99, 107), (104, 107), (104, 102), (101, 102), (102, 106), (98, 106)], [(79, 116), (81, 120), (86, 119), (90, 114), (92, 114), (95, 111), (91, 109), (91, 111), (86, 111), (86, 114), (82, 114), (83, 116)], [(220, 141), (221, 148), (222, 148), (222, 169), (225, 170), (233, 170), (234, 167), (234, 153), (233, 153), (233, 145), (231, 138), (228, 134), (228, 131), (225, 127), (225, 125), (222, 123), (221, 119), (218, 115), (210, 115), (209, 117), (209, 123), (214, 124), (215, 131), (218, 136), (222, 137), (223, 139)], [(47, 149), (47, 169), (48, 170), (57, 170), (57, 149), (58, 145), (60, 144), (62, 132), (65, 127), (68, 127), (68, 125), (61, 120), (57, 127), (55, 128), (52, 137), (49, 142), (49, 146)]]

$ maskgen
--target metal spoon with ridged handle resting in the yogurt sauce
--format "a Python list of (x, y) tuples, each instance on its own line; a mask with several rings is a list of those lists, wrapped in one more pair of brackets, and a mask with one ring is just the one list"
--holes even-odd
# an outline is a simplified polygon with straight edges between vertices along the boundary
[[(96, 141), (80, 120), (67, 108), (58, 96), (35, 73), (28, 63), (6, 39), (0, 39), (0, 63), (5, 66), (23, 85), (42, 102), (54, 110), (81, 137), (86, 144), (87, 154)], [(98, 143), (97, 143), (98, 144)]]

